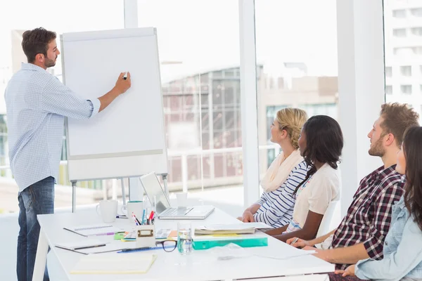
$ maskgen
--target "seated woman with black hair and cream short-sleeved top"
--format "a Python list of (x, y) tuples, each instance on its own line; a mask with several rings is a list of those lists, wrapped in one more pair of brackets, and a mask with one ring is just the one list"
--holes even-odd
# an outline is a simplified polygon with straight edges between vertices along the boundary
[(343, 133), (338, 122), (325, 115), (309, 118), (303, 125), (299, 148), (310, 169), (295, 189), (293, 218), (282, 228), (267, 231), (283, 242), (291, 237), (313, 239), (328, 204), (340, 199), (337, 163), (343, 150)]

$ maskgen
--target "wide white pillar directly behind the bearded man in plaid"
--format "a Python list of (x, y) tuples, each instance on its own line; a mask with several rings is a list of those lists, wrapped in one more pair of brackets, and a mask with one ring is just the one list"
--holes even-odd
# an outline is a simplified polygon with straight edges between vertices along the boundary
[(345, 215), (361, 178), (381, 166), (368, 154), (373, 122), (384, 103), (382, 1), (338, 0), (339, 119), (345, 138), (341, 210)]

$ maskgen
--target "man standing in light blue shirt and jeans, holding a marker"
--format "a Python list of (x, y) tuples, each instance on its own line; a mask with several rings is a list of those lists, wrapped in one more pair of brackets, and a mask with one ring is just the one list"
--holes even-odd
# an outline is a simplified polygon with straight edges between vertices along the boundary
[[(46, 72), (60, 55), (56, 33), (44, 28), (23, 33), (27, 62), (8, 82), (5, 99), (11, 170), (18, 183), (18, 280), (32, 280), (39, 237), (38, 214), (54, 211), (64, 119), (89, 119), (129, 89), (130, 74), (121, 73), (113, 89), (84, 100)], [(49, 280), (47, 269), (44, 280)]]

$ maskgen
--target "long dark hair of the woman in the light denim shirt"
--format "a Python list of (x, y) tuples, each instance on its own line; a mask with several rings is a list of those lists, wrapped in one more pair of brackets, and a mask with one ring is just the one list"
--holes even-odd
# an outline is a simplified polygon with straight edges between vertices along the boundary
[(406, 158), (406, 184), (404, 203), (422, 230), (422, 127), (413, 126), (404, 135), (403, 149)]

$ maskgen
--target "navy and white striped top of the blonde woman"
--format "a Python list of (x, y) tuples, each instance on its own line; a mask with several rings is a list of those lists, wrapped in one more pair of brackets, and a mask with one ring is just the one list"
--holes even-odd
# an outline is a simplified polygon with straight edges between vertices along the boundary
[(256, 204), (260, 209), (253, 215), (255, 221), (266, 223), (273, 228), (286, 226), (293, 216), (296, 187), (302, 183), (307, 174), (307, 164), (302, 161), (290, 172), (286, 181), (276, 190), (264, 192)]

